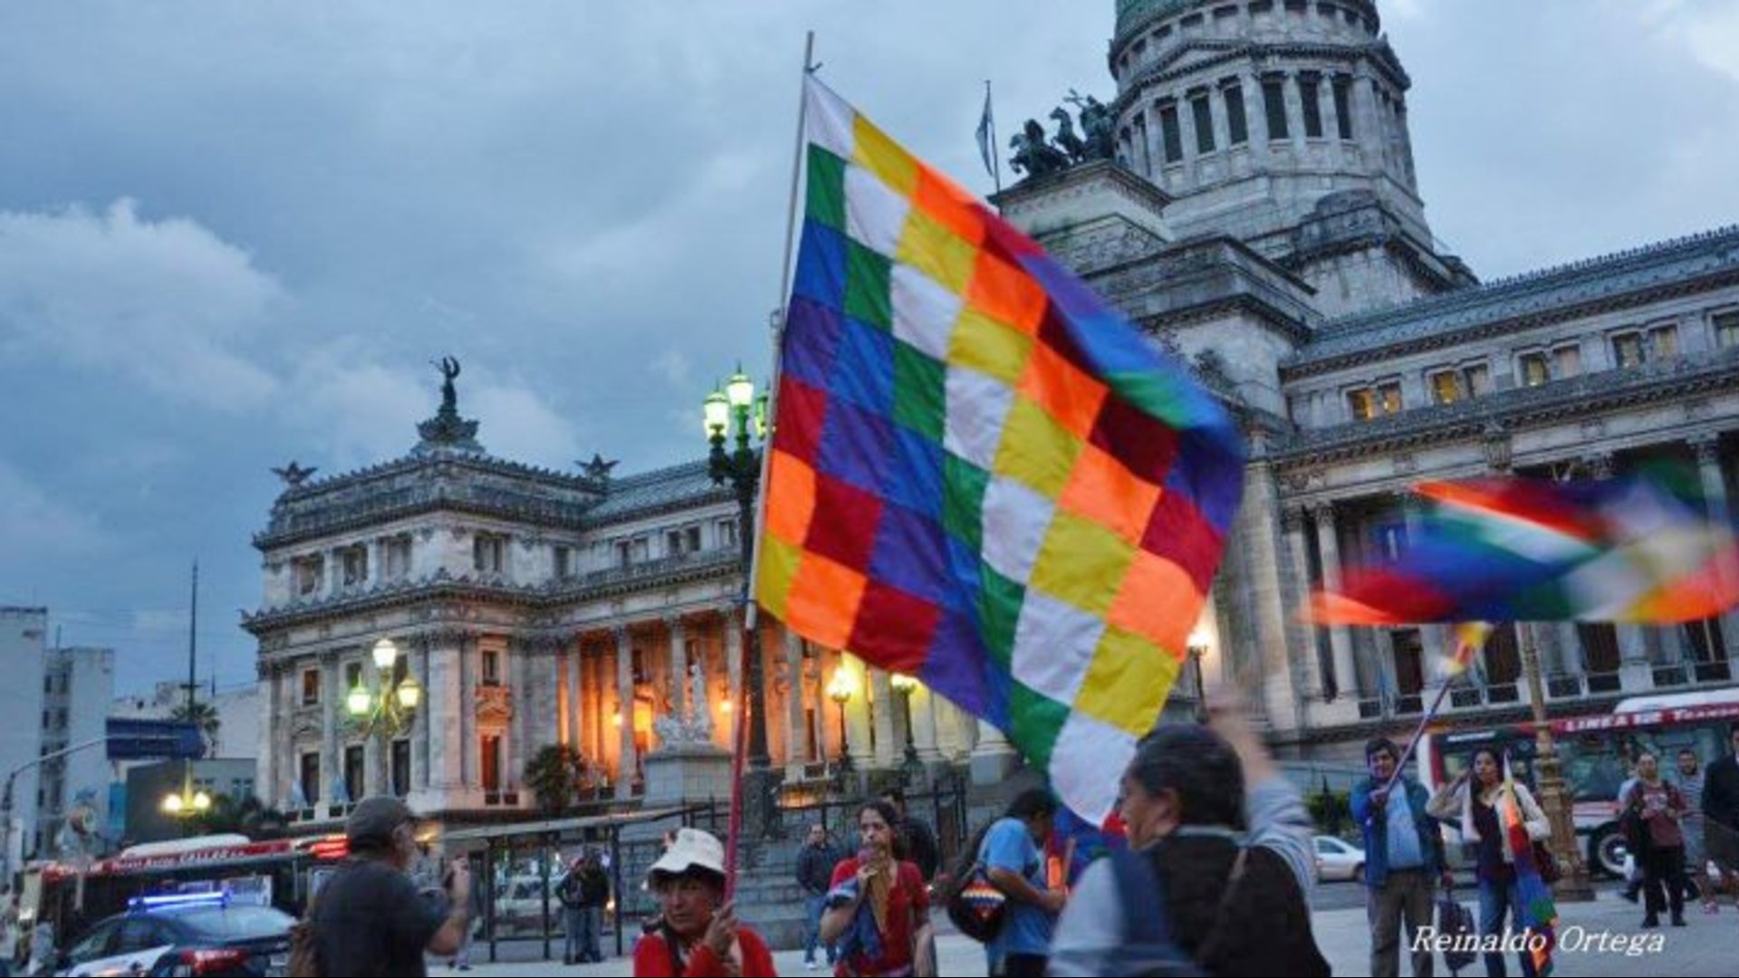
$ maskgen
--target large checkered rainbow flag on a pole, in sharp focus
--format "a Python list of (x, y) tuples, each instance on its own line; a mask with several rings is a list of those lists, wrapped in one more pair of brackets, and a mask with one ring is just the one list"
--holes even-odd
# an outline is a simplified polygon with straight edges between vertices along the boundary
[(1179, 364), (814, 78), (756, 599), (920, 677), (1103, 821), (1243, 449)]

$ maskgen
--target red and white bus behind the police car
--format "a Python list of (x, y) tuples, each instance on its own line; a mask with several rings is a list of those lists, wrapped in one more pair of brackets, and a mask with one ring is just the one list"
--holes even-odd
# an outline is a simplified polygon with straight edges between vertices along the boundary
[(89, 865), (45, 861), (24, 872), (19, 924), (45, 921), (64, 947), (129, 900), (167, 893), (224, 893), (231, 901), (301, 915), (308, 894), (350, 854), (343, 835), (271, 839), (198, 835), (130, 846)]

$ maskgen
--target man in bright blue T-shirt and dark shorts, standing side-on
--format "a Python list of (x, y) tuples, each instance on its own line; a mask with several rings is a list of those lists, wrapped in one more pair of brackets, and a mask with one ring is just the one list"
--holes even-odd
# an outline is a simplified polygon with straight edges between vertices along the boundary
[(1043, 844), (1057, 814), (1057, 800), (1043, 788), (1028, 788), (1009, 802), (984, 834), (979, 858), (984, 875), (1005, 903), (1002, 929), (984, 945), (991, 975), (1043, 975), (1050, 954), (1050, 929), (1063, 912), (1063, 891), (1045, 886)]

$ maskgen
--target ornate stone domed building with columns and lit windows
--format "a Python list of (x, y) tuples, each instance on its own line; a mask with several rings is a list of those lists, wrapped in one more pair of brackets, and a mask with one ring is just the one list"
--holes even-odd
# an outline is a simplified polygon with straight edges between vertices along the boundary
[[(1245, 501), (1191, 649), (1243, 687), (1296, 760), (1358, 759), (1410, 726), (1442, 628), (1313, 628), (1299, 611), (1353, 560), (1405, 546), (1407, 489), (1522, 472), (1696, 466), (1716, 508), (1739, 439), (1739, 230), (1478, 282), (1435, 242), (1414, 167), (1412, 80), (1370, 0), (1120, 0), (1115, 160), (996, 197), (1249, 437)], [(630, 800), (652, 719), (696, 698), (723, 745), (743, 677), (736, 505), (704, 463), (612, 477), (489, 456), (449, 390), (384, 465), (285, 489), (254, 539), (259, 790), (308, 820), (391, 790), (452, 818), (530, 806), (525, 760), (586, 759), (590, 797)], [(1520, 646), (1553, 712), (1730, 684), (1732, 616), (1685, 628), (1501, 630), (1450, 720), (1520, 717)], [(424, 691), (396, 736), (344, 720), (391, 637)], [(788, 785), (842, 750), (859, 769), (1000, 757), (995, 731), (847, 651), (760, 632), (769, 747)], [(840, 710), (826, 696), (850, 680)], [(1179, 680), (1184, 700), (1195, 677)], [(843, 712), (843, 719), (842, 719)], [(843, 743), (842, 743), (843, 741)], [(362, 790), (358, 790), (358, 785)], [(292, 804), (294, 802), (294, 804)]]

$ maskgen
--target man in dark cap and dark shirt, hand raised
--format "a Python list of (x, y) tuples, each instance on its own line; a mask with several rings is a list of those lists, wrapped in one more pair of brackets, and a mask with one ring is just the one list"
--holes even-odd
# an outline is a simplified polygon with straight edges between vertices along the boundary
[(370, 797), (351, 809), (350, 858), (310, 907), (322, 975), (424, 976), (428, 954), (454, 954), (471, 926), (471, 870), (452, 861), (452, 908), (443, 915), (405, 872), (417, 858), (416, 816), (398, 799)]

